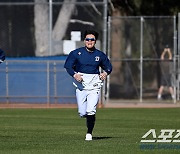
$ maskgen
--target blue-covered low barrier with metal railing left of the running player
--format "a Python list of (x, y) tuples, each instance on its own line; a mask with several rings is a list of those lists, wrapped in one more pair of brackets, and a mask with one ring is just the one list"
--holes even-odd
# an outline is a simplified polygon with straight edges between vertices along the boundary
[(63, 64), (52, 60), (7, 60), (0, 68), (0, 102), (75, 103), (72, 79)]

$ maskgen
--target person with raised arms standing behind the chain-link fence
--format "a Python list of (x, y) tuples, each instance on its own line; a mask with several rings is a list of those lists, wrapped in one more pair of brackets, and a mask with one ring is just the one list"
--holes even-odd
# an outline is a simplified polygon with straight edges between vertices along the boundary
[(158, 100), (162, 99), (162, 93), (165, 87), (168, 87), (171, 98), (175, 99), (174, 90), (171, 82), (170, 63), (172, 60), (172, 53), (168, 45), (164, 48), (161, 54), (161, 85), (158, 90)]

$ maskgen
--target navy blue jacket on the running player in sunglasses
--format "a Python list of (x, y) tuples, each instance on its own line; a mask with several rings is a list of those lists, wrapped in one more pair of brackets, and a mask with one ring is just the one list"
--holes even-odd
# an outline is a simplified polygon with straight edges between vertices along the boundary
[(112, 71), (112, 65), (102, 51), (95, 49), (93, 52), (88, 52), (86, 47), (71, 51), (64, 64), (64, 68), (71, 76), (76, 72), (100, 74), (99, 67), (107, 74)]

